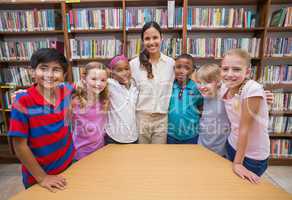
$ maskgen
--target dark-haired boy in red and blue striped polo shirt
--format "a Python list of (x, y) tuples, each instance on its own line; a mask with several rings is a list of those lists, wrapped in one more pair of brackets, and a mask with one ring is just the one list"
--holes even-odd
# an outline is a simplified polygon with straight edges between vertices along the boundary
[(25, 188), (38, 183), (55, 192), (66, 180), (57, 175), (72, 163), (75, 153), (65, 117), (73, 88), (64, 81), (67, 60), (55, 49), (39, 49), (31, 57), (35, 84), (16, 95), (10, 130), (22, 163)]

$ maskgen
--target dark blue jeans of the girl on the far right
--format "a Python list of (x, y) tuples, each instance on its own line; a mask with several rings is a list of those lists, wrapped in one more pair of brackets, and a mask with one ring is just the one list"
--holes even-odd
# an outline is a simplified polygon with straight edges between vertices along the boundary
[[(226, 142), (226, 150), (227, 150), (227, 158), (228, 160), (232, 161), (234, 160), (236, 151), (233, 149), (233, 147), (229, 144), (228, 140)], [(243, 160), (243, 166), (248, 169), (249, 171), (252, 171), (258, 176), (261, 176), (268, 167), (268, 159), (266, 160), (254, 160), (251, 158), (244, 157)]]

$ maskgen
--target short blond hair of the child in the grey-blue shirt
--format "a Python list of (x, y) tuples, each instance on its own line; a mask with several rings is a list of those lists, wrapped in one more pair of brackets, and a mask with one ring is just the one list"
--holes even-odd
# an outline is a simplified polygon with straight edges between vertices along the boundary
[(197, 70), (196, 77), (206, 82), (219, 81), (220, 67), (215, 63), (205, 64)]

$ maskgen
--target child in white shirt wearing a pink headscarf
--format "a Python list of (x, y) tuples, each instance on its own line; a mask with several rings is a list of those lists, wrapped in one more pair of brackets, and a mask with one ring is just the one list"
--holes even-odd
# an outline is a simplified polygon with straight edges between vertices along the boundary
[(128, 59), (115, 56), (110, 64), (112, 79), (108, 79), (110, 107), (105, 140), (107, 144), (137, 143), (136, 102), (138, 90), (131, 79)]

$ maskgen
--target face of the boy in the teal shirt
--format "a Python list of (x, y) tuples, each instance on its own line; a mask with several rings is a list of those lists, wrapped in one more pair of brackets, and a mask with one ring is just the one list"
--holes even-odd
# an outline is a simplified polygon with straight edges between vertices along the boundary
[(193, 73), (193, 62), (186, 58), (180, 58), (175, 61), (175, 79), (178, 82), (184, 82), (188, 80)]

